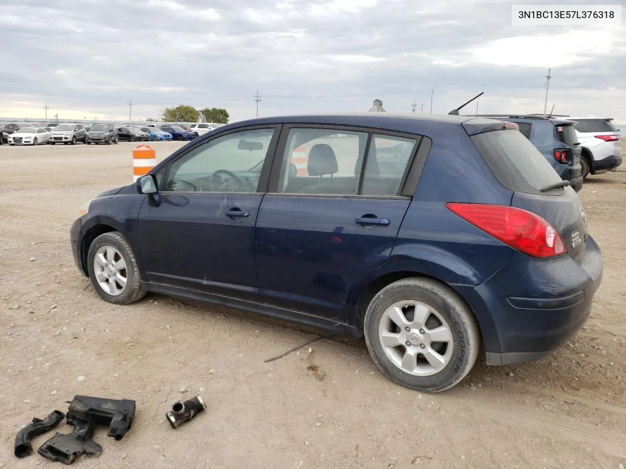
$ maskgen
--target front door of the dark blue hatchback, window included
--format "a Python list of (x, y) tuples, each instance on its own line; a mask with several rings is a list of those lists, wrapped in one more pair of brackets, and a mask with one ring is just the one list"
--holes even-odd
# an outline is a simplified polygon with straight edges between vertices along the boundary
[(233, 129), (195, 144), (159, 171), (141, 206), (148, 281), (258, 299), (254, 231), (277, 126)]

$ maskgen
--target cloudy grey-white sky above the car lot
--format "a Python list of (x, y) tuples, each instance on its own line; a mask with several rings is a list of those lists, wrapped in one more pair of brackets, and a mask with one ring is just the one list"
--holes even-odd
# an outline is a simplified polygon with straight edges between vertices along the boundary
[(448, 113), (481, 91), (479, 113), (541, 113), (551, 67), (548, 111), (626, 123), (623, 24), (512, 26), (503, 1), (0, 0), (0, 118), (121, 121), (132, 101), (239, 121), (257, 90), (259, 116), (429, 113), (431, 94)]

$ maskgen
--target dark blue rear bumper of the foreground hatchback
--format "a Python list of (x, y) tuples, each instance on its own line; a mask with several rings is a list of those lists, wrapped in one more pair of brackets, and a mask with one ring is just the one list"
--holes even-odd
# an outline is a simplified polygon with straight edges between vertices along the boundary
[(538, 260), (519, 253), (482, 285), (457, 286), (479, 320), (487, 363), (539, 360), (564, 345), (587, 321), (602, 270), (600, 248), (589, 237), (580, 265), (568, 255)]

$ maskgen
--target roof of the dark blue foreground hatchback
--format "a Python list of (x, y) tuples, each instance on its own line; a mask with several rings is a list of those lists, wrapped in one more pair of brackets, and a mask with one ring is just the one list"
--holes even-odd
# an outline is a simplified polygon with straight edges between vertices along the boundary
[(249, 119), (227, 124), (222, 129), (262, 124), (320, 124), (354, 127), (369, 127), (381, 130), (414, 133), (416, 123), (424, 127), (461, 126), (469, 135), (501, 128), (502, 123), (495, 119), (481, 116), (451, 116), (449, 114), (413, 114), (413, 113), (341, 113), (341, 114), (300, 114)]

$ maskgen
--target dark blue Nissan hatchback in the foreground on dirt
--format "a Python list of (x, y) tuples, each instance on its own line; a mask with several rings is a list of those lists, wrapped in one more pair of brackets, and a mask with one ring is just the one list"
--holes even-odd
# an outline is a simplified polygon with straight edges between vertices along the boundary
[(442, 391), (538, 360), (602, 278), (578, 195), (518, 126), (387, 113), (243, 121), (93, 199), (74, 259), (106, 301), (146, 291), (364, 336)]

